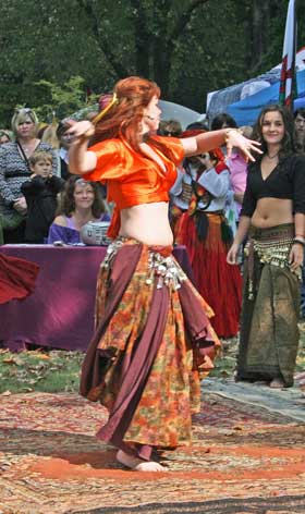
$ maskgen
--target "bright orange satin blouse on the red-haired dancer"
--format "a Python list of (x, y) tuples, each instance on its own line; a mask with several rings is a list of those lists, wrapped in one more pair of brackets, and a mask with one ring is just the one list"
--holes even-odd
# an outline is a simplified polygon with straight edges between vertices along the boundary
[(118, 216), (121, 209), (169, 201), (169, 189), (175, 182), (176, 166), (184, 157), (184, 149), (181, 140), (175, 137), (154, 136), (152, 139), (161, 140), (169, 150), (170, 158), (151, 145), (164, 163), (166, 172), (155, 160), (134, 150), (123, 137), (106, 139), (89, 148), (97, 156), (97, 166), (95, 170), (85, 173), (84, 179), (107, 183), (107, 199), (115, 204), (111, 237), (119, 232)]

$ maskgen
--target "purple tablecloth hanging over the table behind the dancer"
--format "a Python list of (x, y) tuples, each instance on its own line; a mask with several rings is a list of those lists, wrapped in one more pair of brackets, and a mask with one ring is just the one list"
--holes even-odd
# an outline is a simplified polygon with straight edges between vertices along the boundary
[[(94, 331), (96, 279), (106, 247), (5, 245), (0, 252), (40, 266), (32, 296), (0, 305), (1, 345), (85, 351)], [(185, 246), (175, 247), (174, 256), (193, 279)]]

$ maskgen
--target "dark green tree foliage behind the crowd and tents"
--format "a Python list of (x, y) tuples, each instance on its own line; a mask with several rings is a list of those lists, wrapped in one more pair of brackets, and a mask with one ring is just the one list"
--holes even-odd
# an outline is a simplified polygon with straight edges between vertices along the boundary
[[(8, 124), (17, 103), (35, 106), (44, 117), (50, 109), (66, 115), (70, 103), (85, 103), (88, 87), (107, 91), (131, 74), (155, 79), (164, 99), (204, 111), (208, 91), (281, 60), (288, 0), (242, 3), (2, 0), (1, 124)], [(300, 46), (305, 35), (302, 3)], [(81, 82), (73, 85), (72, 77)], [(63, 103), (56, 88), (68, 95)]]

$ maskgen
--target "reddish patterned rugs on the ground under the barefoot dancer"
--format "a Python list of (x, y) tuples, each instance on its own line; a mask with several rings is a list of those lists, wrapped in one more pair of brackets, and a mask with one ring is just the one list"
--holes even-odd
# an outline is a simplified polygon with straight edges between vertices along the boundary
[(1, 406), (1, 513), (305, 510), (305, 426), (260, 407), (205, 393), (192, 448), (164, 452), (170, 473), (156, 475), (114, 461), (95, 438), (106, 411), (76, 394), (2, 395)]

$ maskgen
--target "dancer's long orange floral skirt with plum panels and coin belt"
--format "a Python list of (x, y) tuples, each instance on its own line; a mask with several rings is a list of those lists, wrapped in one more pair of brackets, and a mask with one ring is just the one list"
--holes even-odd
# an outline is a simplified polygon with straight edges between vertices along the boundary
[(125, 238), (110, 245), (82, 371), (81, 394), (109, 409), (97, 436), (143, 458), (190, 444), (200, 379), (220, 346), (212, 310), (171, 252)]

